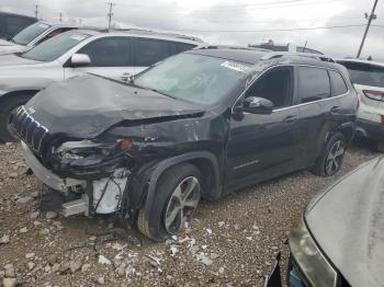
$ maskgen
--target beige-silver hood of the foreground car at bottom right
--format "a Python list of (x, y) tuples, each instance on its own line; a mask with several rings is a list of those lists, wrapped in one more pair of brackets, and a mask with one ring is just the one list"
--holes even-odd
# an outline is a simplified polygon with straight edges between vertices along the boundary
[(305, 219), (319, 246), (351, 286), (382, 286), (384, 158), (357, 169), (313, 199)]

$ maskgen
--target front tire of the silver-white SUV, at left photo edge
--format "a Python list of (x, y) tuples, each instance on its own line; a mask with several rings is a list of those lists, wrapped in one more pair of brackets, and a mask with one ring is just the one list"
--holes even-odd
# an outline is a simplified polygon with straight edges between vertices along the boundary
[(0, 139), (4, 142), (19, 140), (10, 125), (11, 114), (21, 105), (30, 101), (31, 95), (13, 95), (0, 103)]

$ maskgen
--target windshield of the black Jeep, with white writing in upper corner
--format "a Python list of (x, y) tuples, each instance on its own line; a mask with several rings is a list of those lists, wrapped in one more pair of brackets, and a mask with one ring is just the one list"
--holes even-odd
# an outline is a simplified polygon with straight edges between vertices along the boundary
[(248, 67), (194, 54), (180, 54), (140, 73), (134, 84), (192, 103), (211, 105), (226, 96)]

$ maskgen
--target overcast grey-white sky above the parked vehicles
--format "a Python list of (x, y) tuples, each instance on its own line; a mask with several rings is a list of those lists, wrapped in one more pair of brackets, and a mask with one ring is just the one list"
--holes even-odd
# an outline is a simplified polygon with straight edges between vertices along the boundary
[[(0, 10), (38, 18), (108, 23), (109, 0), (1, 0)], [(374, 0), (112, 0), (113, 22), (121, 27), (147, 27), (194, 35), (212, 44), (247, 45), (273, 39), (346, 57), (355, 56)], [(384, 0), (379, 0), (362, 57), (384, 59)], [(318, 28), (354, 25), (351, 27)], [(379, 26), (381, 25), (381, 26)], [(300, 28), (300, 30), (295, 30)], [(281, 31), (285, 30), (285, 31)], [(294, 30), (294, 31), (292, 31)]]

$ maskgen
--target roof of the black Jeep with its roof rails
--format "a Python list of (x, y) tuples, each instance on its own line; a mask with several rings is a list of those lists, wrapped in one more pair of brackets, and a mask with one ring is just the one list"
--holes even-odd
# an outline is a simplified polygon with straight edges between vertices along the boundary
[[(338, 69), (340, 68), (345, 69), (345, 67), (339, 64), (321, 60), (320, 58), (327, 58), (327, 57), (324, 55), (316, 55), (316, 54), (282, 53), (282, 55), (280, 55), (279, 53), (268, 51), (263, 49), (255, 49), (250, 47), (237, 47), (237, 46), (207, 46), (207, 47), (189, 50), (185, 53), (218, 57), (218, 58), (224, 58), (228, 60), (246, 62), (250, 65), (256, 65), (260, 61), (270, 61), (271, 66), (279, 65), (279, 64), (296, 64), (296, 65), (317, 66), (317, 67), (324, 67), (324, 68), (337, 67)], [(263, 56), (268, 56), (268, 55), (271, 55), (271, 56), (280, 55), (281, 57), (273, 57), (273, 58), (266, 58), (266, 59), (262, 58)]]

